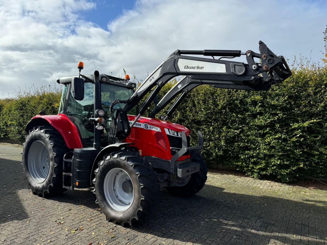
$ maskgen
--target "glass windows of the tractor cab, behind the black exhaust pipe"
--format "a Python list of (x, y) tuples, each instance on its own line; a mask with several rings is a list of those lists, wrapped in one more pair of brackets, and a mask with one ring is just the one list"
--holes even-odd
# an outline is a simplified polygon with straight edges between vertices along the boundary
[[(105, 111), (103, 123), (109, 129), (111, 122), (110, 105), (114, 100), (127, 100), (134, 93), (132, 89), (108, 83), (101, 83), (101, 107)], [(123, 108), (125, 104), (116, 104), (113, 109)], [(92, 146), (94, 141), (94, 125), (89, 118), (94, 117), (94, 87), (93, 83), (84, 83), (84, 99), (75, 100), (73, 92), (70, 91), (66, 114), (77, 126), (82, 144)], [(101, 134), (101, 141), (108, 141), (108, 130), (105, 128)]]

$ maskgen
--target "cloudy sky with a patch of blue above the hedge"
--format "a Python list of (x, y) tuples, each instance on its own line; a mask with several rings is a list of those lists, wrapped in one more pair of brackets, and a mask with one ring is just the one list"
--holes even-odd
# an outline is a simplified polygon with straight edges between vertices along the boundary
[(319, 61), (327, 1), (0, 0), (0, 98), (60, 76), (145, 79), (176, 49), (251, 49)]

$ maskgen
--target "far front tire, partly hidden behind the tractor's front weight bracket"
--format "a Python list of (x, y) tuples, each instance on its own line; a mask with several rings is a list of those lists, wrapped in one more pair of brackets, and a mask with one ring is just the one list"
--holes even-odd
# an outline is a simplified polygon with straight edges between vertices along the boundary
[(188, 198), (198, 193), (207, 181), (207, 165), (200, 153), (191, 154), (191, 161), (200, 164), (200, 170), (191, 174), (191, 178), (184, 186), (166, 187), (169, 194), (177, 197)]

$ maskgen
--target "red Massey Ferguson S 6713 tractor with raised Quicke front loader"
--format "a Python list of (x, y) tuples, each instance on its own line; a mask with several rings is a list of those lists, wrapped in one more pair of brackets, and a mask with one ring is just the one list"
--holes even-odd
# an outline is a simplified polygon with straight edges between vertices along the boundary
[[(80, 74), (80, 62), (78, 77), (57, 80), (63, 85), (58, 115), (40, 112), (26, 125), (22, 165), (28, 187), (46, 196), (93, 186), (101, 212), (121, 225), (148, 216), (160, 188), (179, 197), (196, 194), (207, 180), (207, 167), (199, 153), (201, 132), (199, 145), (190, 146), (190, 130), (167, 118), (198, 85), (268, 90), (291, 75), (284, 57), (276, 56), (262, 41), (259, 50), (176, 50), (136, 90), (129, 77), (98, 71)], [(221, 59), (242, 55), (247, 63)], [(158, 102), (158, 92), (178, 75), (184, 77)], [(156, 119), (177, 96), (167, 114)], [(148, 117), (142, 117), (153, 101), (156, 106)]]

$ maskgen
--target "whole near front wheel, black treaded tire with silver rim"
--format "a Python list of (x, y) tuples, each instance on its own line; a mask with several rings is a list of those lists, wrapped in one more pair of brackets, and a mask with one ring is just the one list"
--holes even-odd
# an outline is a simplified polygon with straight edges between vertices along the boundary
[(106, 155), (98, 163), (93, 183), (100, 212), (122, 226), (149, 216), (159, 197), (160, 186), (152, 164), (135, 152)]

